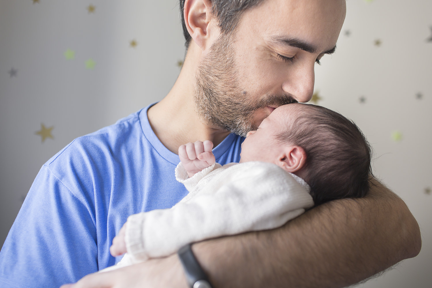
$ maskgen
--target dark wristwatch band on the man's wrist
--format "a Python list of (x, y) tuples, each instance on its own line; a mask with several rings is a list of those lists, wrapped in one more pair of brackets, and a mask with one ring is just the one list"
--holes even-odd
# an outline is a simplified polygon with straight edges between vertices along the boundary
[(204, 273), (192, 252), (191, 244), (181, 247), (177, 254), (190, 288), (212, 288), (206, 273)]

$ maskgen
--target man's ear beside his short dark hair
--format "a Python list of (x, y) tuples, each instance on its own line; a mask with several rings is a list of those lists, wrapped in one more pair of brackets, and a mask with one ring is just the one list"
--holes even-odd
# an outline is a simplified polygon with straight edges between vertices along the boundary
[(185, 0), (184, 24), (194, 42), (205, 50), (210, 40), (213, 19), (211, 0)]

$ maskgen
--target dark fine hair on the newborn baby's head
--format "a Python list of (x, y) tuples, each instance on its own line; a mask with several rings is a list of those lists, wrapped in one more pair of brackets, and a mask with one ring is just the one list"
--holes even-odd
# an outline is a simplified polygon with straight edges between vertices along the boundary
[(302, 105), (288, 130), (278, 136), (306, 152), (303, 179), (311, 187), (315, 206), (340, 198), (362, 197), (372, 178), (372, 149), (359, 127), (341, 114)]

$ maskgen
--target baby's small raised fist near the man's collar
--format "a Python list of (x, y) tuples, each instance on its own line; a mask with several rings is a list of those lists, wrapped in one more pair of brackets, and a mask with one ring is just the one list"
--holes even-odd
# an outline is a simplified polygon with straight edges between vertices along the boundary
[(178, 147), (178, 156), (189, 177), (207, 168), (216, 161), (212, 153), (213, 142), (206, 140), (187, 143)]

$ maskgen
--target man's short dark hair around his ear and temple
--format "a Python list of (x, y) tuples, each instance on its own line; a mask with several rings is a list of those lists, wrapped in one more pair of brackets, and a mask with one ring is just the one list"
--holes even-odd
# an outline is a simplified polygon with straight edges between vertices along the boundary
[[(186, 48), (191, 43), (191, 35), (187, 32), (184, 23), (184, 1), (180, 0), (180, 15), (181, 24), (183, 27), (183, 35)], [(240, 19), (241, 13), (246, 9), (257, 6), (264, 0), (212, 0), (212, 13), (216, 16), (219, 22), (219, 28), (223, 34), (230, 34), (235, 30), (235, 27)]]

